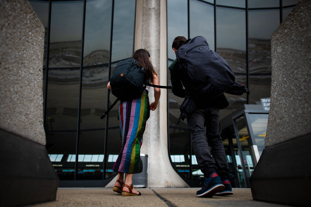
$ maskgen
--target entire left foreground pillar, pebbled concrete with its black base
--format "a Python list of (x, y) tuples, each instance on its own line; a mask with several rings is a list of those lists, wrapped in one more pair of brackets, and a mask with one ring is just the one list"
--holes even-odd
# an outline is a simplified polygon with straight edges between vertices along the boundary
[(1, 205), (55, 200), (58, 177), (45, 150), (44, 27), (26, 0), (0, 1)]

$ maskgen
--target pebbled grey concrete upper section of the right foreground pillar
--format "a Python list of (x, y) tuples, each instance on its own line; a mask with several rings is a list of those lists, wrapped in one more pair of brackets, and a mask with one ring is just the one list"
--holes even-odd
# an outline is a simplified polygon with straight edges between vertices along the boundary
[(311, 1), (301, 1), (271, 38), (271, 106), (265, 146), (311, 133)]

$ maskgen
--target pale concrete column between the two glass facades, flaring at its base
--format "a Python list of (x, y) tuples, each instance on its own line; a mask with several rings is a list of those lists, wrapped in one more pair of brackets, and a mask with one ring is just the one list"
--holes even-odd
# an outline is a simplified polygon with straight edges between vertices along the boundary
[[(135, 50), (149, 51), (160, 85), (166, 85), (166, 1), (137, 0), (135, 31)], [(154, 101), (152, 88), (149, 99)], [(167, 138), (167, 90), (161, 89), (160, 103), (151, 111), (141, 148), (141, 153), (148, 154), (148, 187), (189, 187), (169, 161)]]

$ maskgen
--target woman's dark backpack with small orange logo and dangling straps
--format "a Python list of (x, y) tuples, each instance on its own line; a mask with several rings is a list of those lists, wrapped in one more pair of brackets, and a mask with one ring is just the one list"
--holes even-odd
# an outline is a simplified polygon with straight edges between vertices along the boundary
[(118, 62), (110, 78), (112, 94), (117, 97), (109, 109), (100, 117), (103, 119), (119, 101), (127, 101), (142, 95), (146, 86), (171, 89), (172, 86), (153, 85), (144, 79), (145, 69), (134, 58)]

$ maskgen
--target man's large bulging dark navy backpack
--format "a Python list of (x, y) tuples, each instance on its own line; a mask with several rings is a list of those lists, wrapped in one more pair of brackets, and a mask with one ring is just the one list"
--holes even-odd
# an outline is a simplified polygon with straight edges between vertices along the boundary
[(210, 49), (202, 36), (188, 39), (177, 50), (176, 57), (187, 71), (193, 97), (217, 97), (235, 82), (228, 63)]

